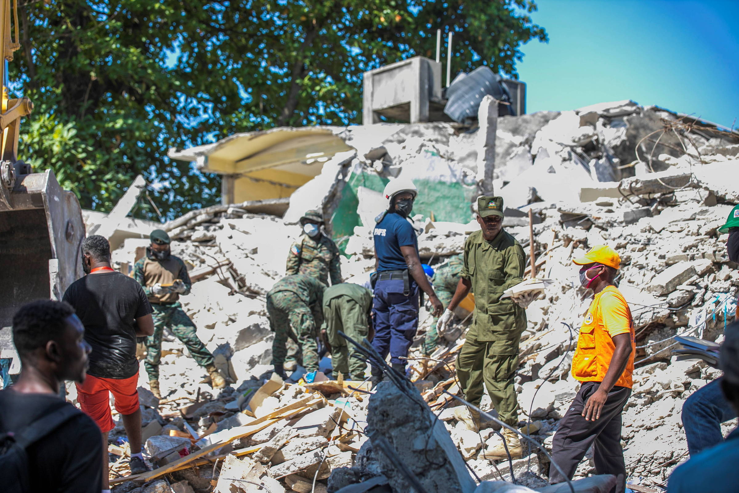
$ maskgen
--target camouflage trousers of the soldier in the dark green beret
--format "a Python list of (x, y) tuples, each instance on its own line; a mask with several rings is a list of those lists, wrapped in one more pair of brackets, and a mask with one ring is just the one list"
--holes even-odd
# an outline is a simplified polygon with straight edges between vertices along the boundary
[(159, 362), (162, 359), (162, 336), (164, 327), (185, 344), (190, 356), (201, 367), (213, 364), (213, 355), (205, 344), (195, 334), (195, 324), (185, 314), (180, 303), (172, 305), (151, 304), (154, 310), (151, 317), (154, 319), (154, 334), (146, 338), (146, 360), (143, 367), (149, 375), (149, 380), (159, 379)]

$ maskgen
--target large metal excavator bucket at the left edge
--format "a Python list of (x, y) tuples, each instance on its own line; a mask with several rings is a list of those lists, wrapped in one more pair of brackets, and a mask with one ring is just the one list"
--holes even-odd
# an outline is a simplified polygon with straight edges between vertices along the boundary
[(21, 305), (61, 299), (84, 275), (85, 237), (80, 203), (51, 170), (18, 174), (0, 197), (0, 327), (10, 327)]

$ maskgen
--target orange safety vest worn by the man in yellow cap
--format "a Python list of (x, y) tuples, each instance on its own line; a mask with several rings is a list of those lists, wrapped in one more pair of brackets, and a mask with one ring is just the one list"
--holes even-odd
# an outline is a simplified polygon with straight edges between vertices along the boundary
[[(600, 293), (597, 293), (593, 298), (593, 302), (590, 303), (590, 307), (588, 307), (588, 313), (585, 313), (585, 319), (583, 319), (580, 328), (580, 336), (577, 340), (577, 349), (572, 358), (572, 376), (579, 381), (603, 381), (608, 371), (616, 346), (613, 344), (613, 337), (603, 321), (601, 300), (605, 293), (612, 293), (616, 297), (617, 302), (621, 305), (620, 308), (624, 310), (627, 316), (624, 325), (628, 327), (631, 336), (631, 354), (624, 373), (616, 381), (616, 385), (631, 388), (633, 387), (632, 373), (636, 353), (634, 323), (626, 299), (624, 299), (621, 291), (614, 286), (607, 286)], [(606, 315), (610, 316), (611, 314), (607, 313)]]

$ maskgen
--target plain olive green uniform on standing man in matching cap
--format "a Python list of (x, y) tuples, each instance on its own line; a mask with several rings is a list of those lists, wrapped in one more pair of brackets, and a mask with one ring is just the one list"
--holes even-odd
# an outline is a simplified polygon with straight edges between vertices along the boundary
[(526, 314), (500, 296), (523, 280), (524, 266), (523, 248), (503, 230), (491, 242), (483, 231), (475, 231), (465, 242), (460, 276), (472, 283), (474, 313), (457, 355), (457, 377), (466, 400), (475, 405), (483, 398), (484, 381), (501, 421), (511, 426), (518, 422), (514, 372)]

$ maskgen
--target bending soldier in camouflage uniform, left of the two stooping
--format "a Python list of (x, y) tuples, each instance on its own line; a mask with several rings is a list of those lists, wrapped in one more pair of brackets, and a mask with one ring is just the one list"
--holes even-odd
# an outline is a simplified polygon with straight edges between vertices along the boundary
[(299, 344), (303, 366), (309, 373), (319, 369), (316, 318), (320, 323), (325, 289), (326, 286), (315, 277), (296, 274), (283, 277), (267, 293), (270, 328), (275, 333), (272, 342), (272, 364), (275, 372), (282, 378), (287, 378), (284, 368), (287, 339)]

